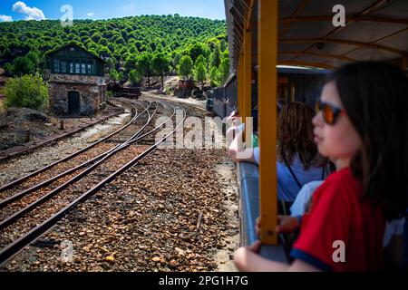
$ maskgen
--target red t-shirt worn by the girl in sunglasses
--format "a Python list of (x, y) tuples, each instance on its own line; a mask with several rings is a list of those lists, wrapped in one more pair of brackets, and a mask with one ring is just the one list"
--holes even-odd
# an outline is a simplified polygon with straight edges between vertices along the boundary
[[(291, 256), (326, 271), (378, 270), (383, 252), (383, 210), (362, 202), (362, 193), (361, 183), (349, 168), (329, 176), (316, 189), (310, 213), (302, 218)], [(345, 247), (336, 241), (343, 241)], [(342, 248), (345, 262), (341, 261)]]

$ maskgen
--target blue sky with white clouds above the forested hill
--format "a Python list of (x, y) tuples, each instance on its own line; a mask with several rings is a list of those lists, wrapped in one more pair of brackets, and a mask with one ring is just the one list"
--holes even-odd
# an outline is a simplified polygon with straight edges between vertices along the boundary
[(0, 0), (0, 22), (61, 19), (63, 5), (73, 7), (73, 19), (96, 20), (141, 14), (225, 19), (224, 0)]

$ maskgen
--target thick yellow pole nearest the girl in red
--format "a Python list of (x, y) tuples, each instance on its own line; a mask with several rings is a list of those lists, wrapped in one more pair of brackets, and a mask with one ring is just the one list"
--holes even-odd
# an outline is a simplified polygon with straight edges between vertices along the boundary
[(277, 0), (258, 0), (261, 242), (277, 245)]

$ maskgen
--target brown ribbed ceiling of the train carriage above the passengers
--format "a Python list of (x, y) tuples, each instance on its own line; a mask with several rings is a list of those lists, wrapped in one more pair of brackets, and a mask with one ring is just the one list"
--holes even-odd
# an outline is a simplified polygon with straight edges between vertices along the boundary
[[(257, 1), (225, 0), (228, 46), (237, 69), (244, 29), (251, 27), (257, 63)], [(345, 26), (335, 27), (335, 5)], [(333, 69), (362, 60), (386, 60), (408, 68), (407, 0), (279, 0), (277, 63)], [(251, 21), (244, 23), (244, 15)]]

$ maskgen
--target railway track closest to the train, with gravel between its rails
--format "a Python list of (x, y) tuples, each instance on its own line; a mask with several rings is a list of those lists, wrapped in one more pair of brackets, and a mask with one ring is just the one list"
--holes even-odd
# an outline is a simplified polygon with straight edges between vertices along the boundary
[[(154, 103), (154, 113), (158, 109), (158, 103), (161, 103), (164, 107), (162, 102)], [(135, 145), (138, 141), (148, 137), (154, 131), (158, 131), (166, 122), (160, 123), (146, 133), (141, 133), (147, 129), (147, 126), (153, 119), (152, 115), (154, 114), (151, 115), (148, 110), (152, 104), (153, 102), (149, 102), (149, 107), (145, 110), (149, 115), (147, 118), (148, 121), (139, 131), (136, 131), (128, 140), (116, 145), (113, 149), (106, 150), (92, 161), (83, 162), (89, 166), (88, 168), (83, 169), (85, 165), (80, 165), (77, 169), (70, 169), (67, 170), (69, 172), (63, 172), (63, 175), (60, 174), (63, 178), (63, 184), (56, 189), (48, 191), (45, 194), (41, 192), (41, 189), (44, 189), (47, 182), (53, 182), (47, 179), (32, 187), (35, 189), (25, 190), (25, 192), (23, 190), (9, 198), (8, 201), (5, 202), (5, 199), (1, 201), (2, 205), (4, 205), (2, 206), (3, 208), (21, 209), (17, 211), (14, 211), (14, 209), (10, 210), (10, 212), (13, 212), (11, 215), (8, 215), (8, 210), (6, 210), (6, 217), (0, 222), (0, 229), (3, 232), (1, 246), (5, 246), (0, 251), (0, 265), (4, 265), (12, 256), (15, 256), (15, 254), (24, 247), (34, 242), (38, 237), (41, 237), (47, 230), (53, 227), (58, 220), (63, 218), (71, 208), (91, 196), (92, 193), (101, 189), (106, 183), (111, 182), (112, 179), (121, 172), (131, 168), (131, 166), (136, 164), (139, 160), (150, 154), (151, 151), (155, 150), (161, 142), (166, 140), (166, 138), (173, 133), (169, 133), (151, 146)], [(175, 112), (176, 106), (173, 106), (173, 113), (168, 121), (175, 116)], [(183, 115), (185, 119), (186, 112), (184, 110)], [(177, 128), (179, 128), (181, 124), (182, 121), (178, 124)], [(35, 195), (35, 192), (39, 192), (41, 197)], [(29, 193), (31, 193), (29, 197), (27, 197), (29, 199), (23, 198)], [(46, 218), (44, 221), (44, 217), (49, 218)], [(25, 234), (21, 236), (23, 232)]]

